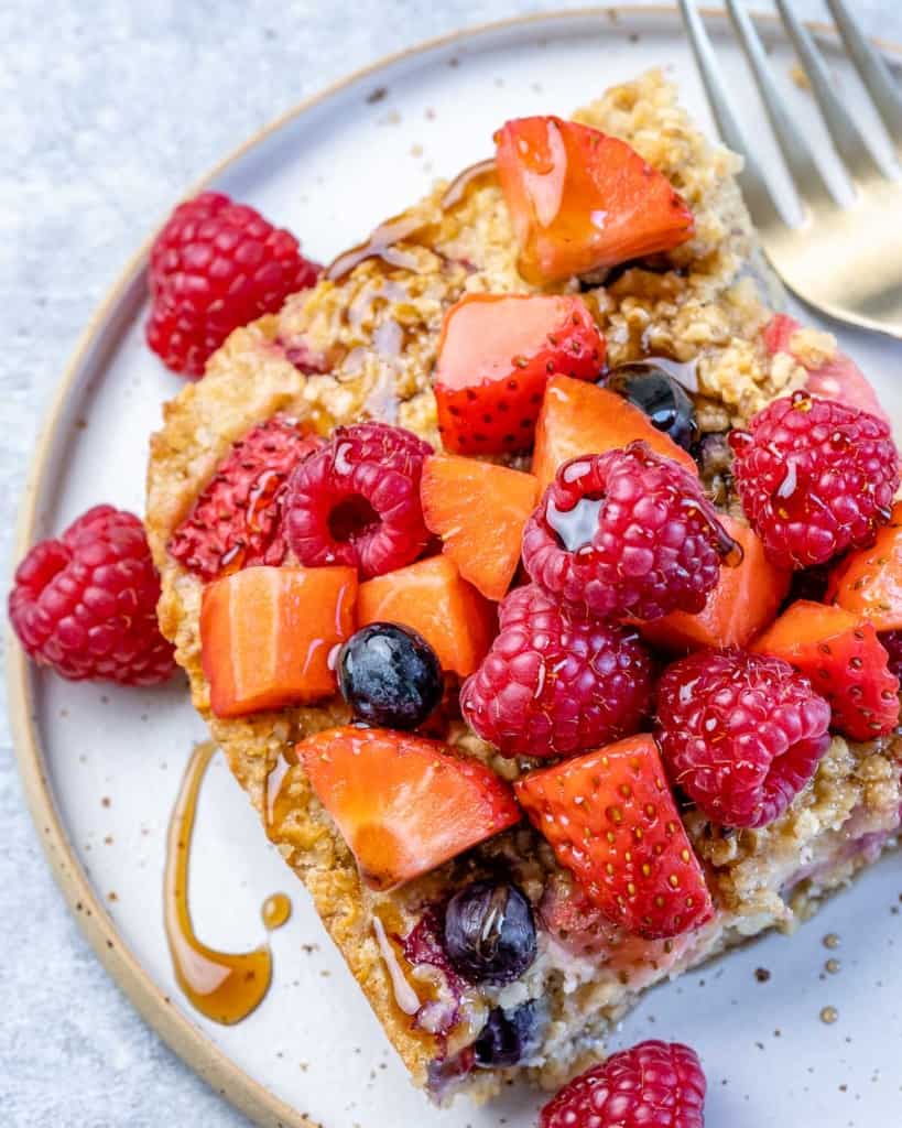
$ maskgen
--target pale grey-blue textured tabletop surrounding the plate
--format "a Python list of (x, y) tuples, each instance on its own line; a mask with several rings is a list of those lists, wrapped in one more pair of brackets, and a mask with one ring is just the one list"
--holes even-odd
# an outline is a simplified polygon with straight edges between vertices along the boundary
[[(870, 33), (902, 39), (899, 0), (851, 2)], [(3, 585), (21, 482), (52, 389), (91, 310), (182, 188), (259, 125), (350, 70), (467, 24), (550, 7), (551, 0), (3, 0)], [(824, 18), (819, 0), (797, 0), (797, 8)], [(246, 1125), (162, 1046), (94, 959), (44, 863), (9, 746), (3, 710), (0, 1123)]]

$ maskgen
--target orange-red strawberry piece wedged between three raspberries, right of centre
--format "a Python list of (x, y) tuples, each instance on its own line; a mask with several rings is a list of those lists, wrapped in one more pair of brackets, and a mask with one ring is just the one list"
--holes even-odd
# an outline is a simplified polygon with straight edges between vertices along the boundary
[(735, 567), (722, 567), (717, 587), (698, 615), (671, 611), (663, 619), (637, 622), (654, 646), (670, 651), (746, 646), (773, 618), (789, 590), (792, 572), (775, 567), (764, 546), (744, 521), (719, 513), (718, 520), (742, 548)]

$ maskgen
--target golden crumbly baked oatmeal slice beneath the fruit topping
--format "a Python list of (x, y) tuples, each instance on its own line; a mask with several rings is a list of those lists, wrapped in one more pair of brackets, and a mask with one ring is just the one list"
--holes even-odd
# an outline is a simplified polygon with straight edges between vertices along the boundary
[[(761, 258), (734, 180), (739, 158), (691, 125), (661, 73), (611, 89), (574, 120), (628, 142), (663, 174), (691, 212), (691, 237), (666, 252), (636, 254), (580, 277), (567, 274), (530, 283), (524, 273), (536, 274), (518, 258), (522, 232), (514, 230), (495, 166), (480, 166), (451, 185), (437, 185), (368, 244), (341, 256), (312, 290), (290, 298), (278, 315), (232, 333), (209, 362), (204, 379), (166, 405), (163, 428), (151, 446), (147, 525), (162, 581), (159, 619), (189, 676), (194, 704), (248, 792), (266, 834), (310, 891), (414, 1079), (436, 1100), (461, 1091), (484, 1099), (516, 1073), (543, 1086), (559, 1084), (603, 1052), (611, 1024), (640, 992), (763, 929), (792, 929), (804, 919), (825, 892), (848, 882), (894, 841), (902, 803), (894, 731), (864, 741), (832, 732), (829, 747), (826, 738), (820, 746), (811, 782), (782, 813), (757, 828), (724, 826), (681, 795), (684, 853), (695, 852), (699, 860), (711, 910), (691, 931), (648, 938), (600, 911), (598, 899), (586, 897), (549, 840), (525, 821), (516, 822), (516, 814), (513, 825), (510, 818), (498, 823), (507, 829), (430, 872), (400, 885), (383, 882), (392, 888), (377, 888), (372, 874), (361, 878), (354, 854), (321, 802), (322, 785), (315, 788), (306, 770), (310, 761), (294, 751), (304, 738), (350, 722), (343, 698), (336, 693), (309, 704), (245, 715), (226, 716), (228, 710), (221, 707), (220, 715), (211, 711), (212, 659), (207, 654), (203, 661), (201, 631), (202, 602), (205, 609), (209, 602), (204, 581), (210, 576), (186, 566), (184, 553), (179, 558), (170, 550), (198, 495), (221, 473), (233, 444), (274, 416), (297, 420), (324, 437), (337, 425), (381, 421), (441, 450), (449, 432), (443, 424), (440, 434), (433, 391), (440, 335), (449, 309), (466, 296), (578, 297), (600, 331), (612, 374), (622, 374), (622, 365), (647, 358), (675, 373), (691, 399), (697, 429), (692, 450), (708, 497), (724, 521), (732, 522), (725, 528), (743, 545), (746, 559), (759, 550), (735, 493), (727, 435), (777, 397), (805, 387), (825, 364), (838, 362), (835, 343), (788, 319), (779, 321), (784, 332), (778, 338), (772, 310), (779, 307), (780, 292)], [(529, 367), (523, 361), (518, 368)], [(567, 386), (575, 384), (569, 377), (563, 379)], [(591, 411), (590, 400), (585, 403), (589, 407), (580, 400), (573, 408), (576, 416)], [(561, 412), (565, 407), (558, 405)], [(550, 428), (551, 408), (542, 411), (532, 465), (540, 478), (539, 442), (546, 443), (546, 459), (554, 448), (551, 438), (541, 438), (542, 428)], [(492, 460), (520, 472), (531, 466), (523, 452), (499, 452)], [(552, 476), (559, 460), (555, 456)], [(691, 459), (686, 460), (691, 466)], [(298, 488), (292, 478), (290, 490)], [(449, 543), (450, 531), (442, 531)], [(289, 540), (294, 543), (291, 536)], [(475, 552), (472, 545), (467, 552)], [(463, 575), (470, 574), (468, 559), (459, 557)], [(229, 572), (241, 561), (230, 557), (221, 563)], [(284, 563), (297, 564), (291, 549)], [(439, 565), (423, 563), (413, 565), (421, 569), (418, 582), (443, 582)], [(515, 567), (516, 558), (510, 571)], [(373, 607), (381, 608), (368, 613), (365, 622), (399, 618), (412, 625), (397, 610), (404, 603), (391, 602), (396, 591), (384, 580), (360, 575), (357, 613), (362, 614), (365, 592)], [(510, 572), (505, 584), (509, 581)], [(761, 625), (776, 615), (788, 575), (780, 582), (773, 581), (779, 590)], [(442, 587), (426, 590), (445, 592)], [(760, 596), (740, 592), (740, 614), (746, 605), (758, 608)], [(262, 600), (255, 606), (263, 608), (268, 596), (255, 598)], [(468, 606), (476, 609), (463, 613), (465, 619), (483, 607)], [(387, 614), (384, 608), (396, 610)], [(267, 614), (260, 611), (260, 623)], [(446, 626), (457, 613), (452, 608), (430, 614)], [(674, 615), (666, 619), (663, 635), (660, 624), (649, 624), (647, 637), (654, 645), (663, 642), (672, 649), (675, 641), (678, 650), (695, 649), (699, 638), (707, 640), (708, 628), (699, 628), (698, 615), (679, 610)], [(430, 633), (433, 619), (426, 615), (422, 633)], [(339, 631), (333, 641), (345, 636)], [(746, 634), (741, 644), (748, 641)], [(466, 653), (453, 654), (441, 655), (445, 673), (472, 672)], [(290, 680), (290, 671), (285, 677)], [(446, 691), (449, 699), (457, 699), (453, 673)], [(433, 719), (431, 724), (439, 722)], [(501, 755), (453, 707), (434, 731), (460, 755), (490, 769), (498, 786), (527, 777), (537, 765), (531, 757)], [(629, 734), (611, 732), (612, 739)], [(336, 814), (339, 808), (342, 813)], [(330, 809), (346, 829), (345, 808), (331, 803)], [(409, 840), (401, 844), (409, 845)], [(356, 846), (359, 855), (365, 853), (360, 841)], [(484, 884), (472, 891), (472, 882)], [(501, 937), (502, 955), (493, 949), (480, 958), (490, 963), (506, 953), (513, 977), (496, 969), (480, 979), (467, 973), (460, 953), (449, 955), (449, 944), (454, 945), (448, 902), (461, 890), (471, 890), (465, 932), (474, 919), (490, 931), (498, 913), (510, 918), (512, 931)]]

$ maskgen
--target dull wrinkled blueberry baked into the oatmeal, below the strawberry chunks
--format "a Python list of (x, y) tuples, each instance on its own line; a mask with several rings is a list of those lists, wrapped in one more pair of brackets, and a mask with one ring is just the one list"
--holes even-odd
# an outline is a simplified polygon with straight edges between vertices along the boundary
[(454, 971), (470, 982), (513, 982), (536, 959), (529, 901), (505, 881), (467, 885), (448, 902), (444, 950)]

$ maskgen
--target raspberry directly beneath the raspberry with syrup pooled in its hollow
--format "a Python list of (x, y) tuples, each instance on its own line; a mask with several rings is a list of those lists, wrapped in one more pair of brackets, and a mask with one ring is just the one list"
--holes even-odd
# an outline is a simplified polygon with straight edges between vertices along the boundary
[(501, 634), (460, 694), (465, 720), (504, 756), (569, 756), (637, 732), (651, 659), (625, 627), (568, 614), (540, 588), (501, 605)]

